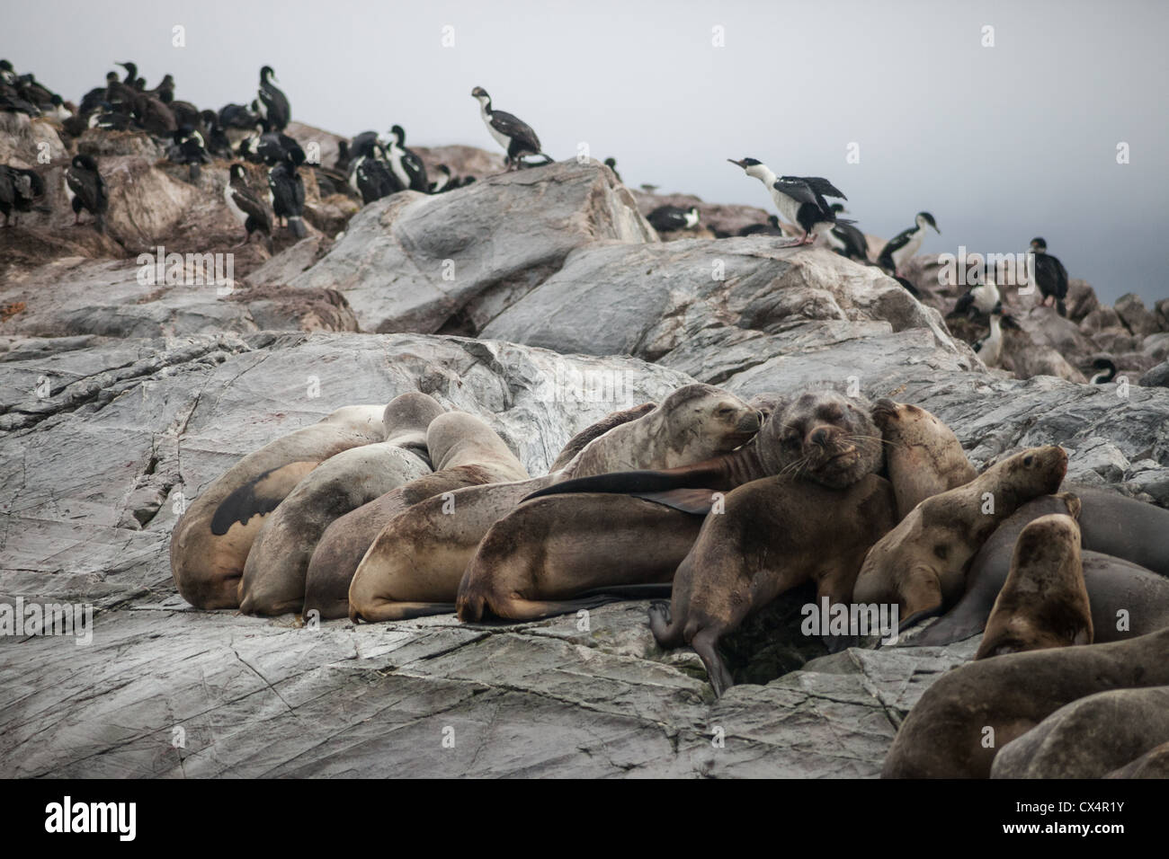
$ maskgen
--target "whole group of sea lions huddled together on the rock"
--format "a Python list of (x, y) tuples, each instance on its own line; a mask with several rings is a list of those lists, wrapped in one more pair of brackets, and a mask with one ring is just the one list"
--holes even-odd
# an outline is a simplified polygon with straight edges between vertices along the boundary
[[(1147, 715), (1109, 746), (1112, 769), (1164, 771), (1169, 512), (1060, 492), (1066, 467), (1042, 446), (980, 474), (943, 422), (892, 400), (690, 385), (588, 427), (532, 477), (486, 422), (411, 392), (244, 457), (189, 506), (171, 561), (200, 608), (367, 622), (669, 593), (650, 629), (692, 646), (717, 694), (733, 685), (720, 638), (814, 582), (817, 601), (897, 605), (902, 630), (932, 621), (913, 645), (987, 630), (906, 719), (885, 775), (1047, 773), (1052, 743), (1106, 728), (1109, 706)], [(1114, 697), (1079, 706), (1098, 692)]]

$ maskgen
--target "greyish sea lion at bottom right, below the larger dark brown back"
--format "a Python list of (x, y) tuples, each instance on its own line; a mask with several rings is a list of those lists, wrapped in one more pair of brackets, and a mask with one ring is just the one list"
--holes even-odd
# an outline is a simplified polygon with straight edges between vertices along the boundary
[(991, 778), (1102, 778), (1169, 741), (1169, 686), (1065, 704), (995, 755)]

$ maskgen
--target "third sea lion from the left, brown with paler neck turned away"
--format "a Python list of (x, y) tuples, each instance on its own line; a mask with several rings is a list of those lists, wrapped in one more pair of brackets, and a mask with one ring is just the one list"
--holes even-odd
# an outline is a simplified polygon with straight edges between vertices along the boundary
[(305, 576), (304, 612), (347, 617), (350, 584), (386, 522), (419, 501), (478, 486), (527, 478), (527, 470), (485, 421), (463, 411), (436, 417), (427, 429), (435, 472), (387, 492), (334, 520), (321, 535)]

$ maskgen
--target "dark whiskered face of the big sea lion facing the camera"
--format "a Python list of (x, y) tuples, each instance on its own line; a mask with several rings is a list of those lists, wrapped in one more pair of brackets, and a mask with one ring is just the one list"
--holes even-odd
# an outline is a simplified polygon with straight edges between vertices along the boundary
[(756, 443), (770, 474), (851, 486), (880, 467), (880, 431), (871, 406), (831, 390), (802, 394), (772, 415)]

